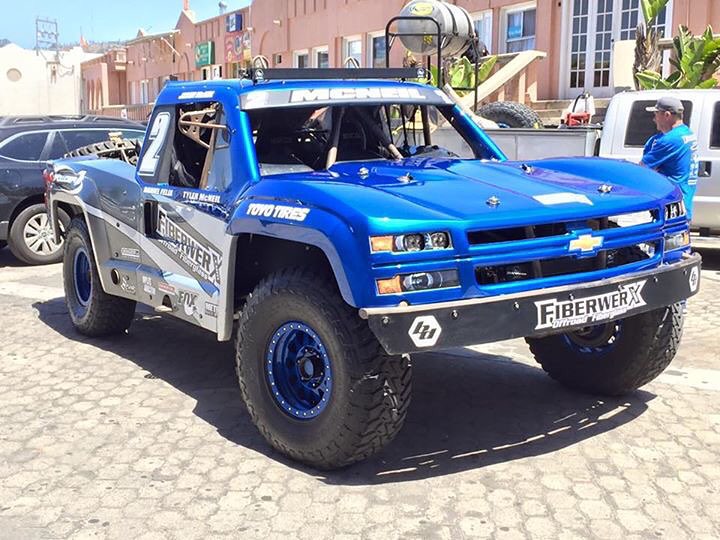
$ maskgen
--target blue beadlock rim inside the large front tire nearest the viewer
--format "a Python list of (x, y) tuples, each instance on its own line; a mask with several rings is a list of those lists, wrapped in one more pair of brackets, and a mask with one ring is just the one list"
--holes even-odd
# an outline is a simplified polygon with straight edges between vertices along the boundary
[(267, 345), (265, 374), (275, 402), (293, 418), (315, 418), (330, 402), (330, 357), (306, 324), (291, 321), (275, 331)]

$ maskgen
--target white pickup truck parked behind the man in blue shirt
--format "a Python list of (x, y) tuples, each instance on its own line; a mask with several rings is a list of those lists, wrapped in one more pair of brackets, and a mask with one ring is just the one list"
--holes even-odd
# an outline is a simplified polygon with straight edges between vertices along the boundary
[[(622, 92), (610, 101), (602, 129), (489, 129), (510, 159), (600, 156), (639, 162), (645, 142), (656, 132), (645, 107), (661, 96), (685, 106), (685, 123), (698, 136), (700, 178), (693, 206), (696, 245), (720, 245), (720, 90)], [(708, 242), (709, 237), (716, 237)]]

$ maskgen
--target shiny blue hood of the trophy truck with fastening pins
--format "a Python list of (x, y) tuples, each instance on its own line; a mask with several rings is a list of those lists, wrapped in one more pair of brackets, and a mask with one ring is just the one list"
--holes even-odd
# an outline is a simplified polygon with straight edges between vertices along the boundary
[[(361, 171), (363, 167), (367, 174)], [(601, 159), (527, 164), (408, 159), (341, 163), (332, 168), (332, 173), (336, 180), (362, 184), (391, 195), (396, 203), (401, 199), (422, 207), (440, 219), (492, 216), (496, 225), (505, 220), (516, 224), (520, 215), (534, 222), (634, 212), (657, 208), (662, 199), (676, 198), (675, 186), (659, 174)], [(363, 198), (356, 204), (363, 205)], [(387, 206), (378, 208), (374, 203), (363, 213), (395, 217), (392, 204), (388, 200)]]

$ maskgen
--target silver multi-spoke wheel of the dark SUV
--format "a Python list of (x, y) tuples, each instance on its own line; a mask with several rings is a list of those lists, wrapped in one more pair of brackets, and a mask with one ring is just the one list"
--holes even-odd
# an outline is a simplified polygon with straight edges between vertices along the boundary
[[(70, 224), (70, 216), (58, 208), (60, 230)], [(33, 204), (20, 212), (10, 226), (8, 244), (13, 255), (27, 264), (53, 264), (63, 257), (63, 239), (55, 242), (44, 204)]]

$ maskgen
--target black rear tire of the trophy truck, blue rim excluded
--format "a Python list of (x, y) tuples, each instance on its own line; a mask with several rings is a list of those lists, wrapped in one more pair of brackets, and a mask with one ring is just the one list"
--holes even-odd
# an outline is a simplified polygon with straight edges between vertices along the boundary
[[(78, 249), (85, 250), (90, 262), (90, 294), (86, 306), (78, 299), (75, 287), (74, 260)], [(65, 237), (63, 284), (70, 319), (81, 334), (91, 337), (109, 336), (123, 333), (130, 327), (135, 315), (135, 301), (103, 291), (90, 234), (85, 221), (80, 217), (72, 220)]]

